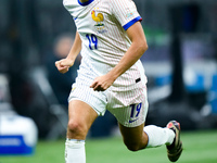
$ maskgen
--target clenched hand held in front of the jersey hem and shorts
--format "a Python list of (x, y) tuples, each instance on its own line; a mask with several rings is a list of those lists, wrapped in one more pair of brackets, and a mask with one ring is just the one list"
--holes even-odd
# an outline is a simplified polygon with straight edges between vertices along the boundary
[(90, 88), (93, 88), (95, 91), (104, 91), (114, 83), (113, 77), (108, 75), (103, 75), (95, 77), (95, 79), (90, 85)]

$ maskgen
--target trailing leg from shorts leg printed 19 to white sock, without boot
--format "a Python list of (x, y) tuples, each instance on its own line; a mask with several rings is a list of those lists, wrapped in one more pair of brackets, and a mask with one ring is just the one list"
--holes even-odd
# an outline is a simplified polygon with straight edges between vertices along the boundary
[(140, 103), (110, 109), (119, 123), (124, 142), (129, 150), (137, 151), (145, 147), (170, 145), (175, 138), (175, 133), (171, 129), (154, 125), (144, 127), (148, 106), (148, 101), (144, 98), (143, 102)]

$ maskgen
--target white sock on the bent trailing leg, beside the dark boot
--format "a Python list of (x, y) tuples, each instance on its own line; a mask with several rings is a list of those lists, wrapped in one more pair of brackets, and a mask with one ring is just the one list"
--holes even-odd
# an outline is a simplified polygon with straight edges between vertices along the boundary
[(175, 138), (175, 133), (169, 128), (162, 128), (154, 125), (143, 128), (149, 137), (146, 148), (158, 147), (162, 145), (171, 145)]

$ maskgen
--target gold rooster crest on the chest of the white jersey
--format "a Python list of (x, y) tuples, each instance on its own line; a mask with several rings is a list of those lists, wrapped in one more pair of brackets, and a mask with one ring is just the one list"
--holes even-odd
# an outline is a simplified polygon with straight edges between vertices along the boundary
[(94, 28), (101, 34), (106, 33), (107, 30), (105, 29), (104, 24), (103, 24), (104, 16), (102, 13), (97, 12), (97, 10), (98, 9), (94, 8), (94, 10), (92, 10), (91, 12), (91, 17), (95, 22)]

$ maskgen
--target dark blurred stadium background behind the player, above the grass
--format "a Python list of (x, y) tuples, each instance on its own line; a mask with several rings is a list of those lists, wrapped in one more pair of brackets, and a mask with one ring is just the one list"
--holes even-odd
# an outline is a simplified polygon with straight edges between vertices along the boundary
[[(141, 59), (149, 80), (146, 124), (175, 118), (183, 130), (217, 128), (217, 1), (133, 1), (149, 43)], [(80, 57), (65, 75), (54, 62), (67, 54), (75, 32), (61, 0), (0, 0), (1, 117), (29, 117), (40, 139), (65, 137)], [(107, 112), (89, 135), (112, 136), (116, 127)]]

